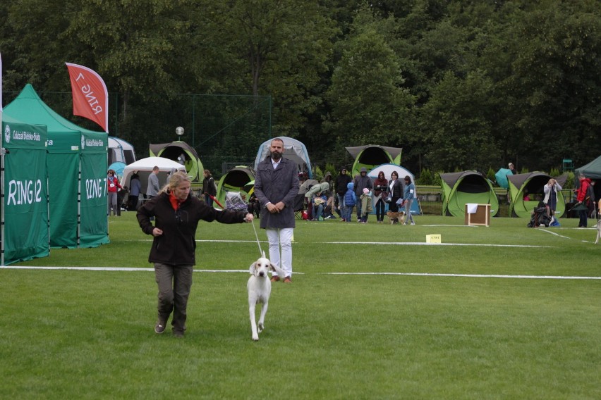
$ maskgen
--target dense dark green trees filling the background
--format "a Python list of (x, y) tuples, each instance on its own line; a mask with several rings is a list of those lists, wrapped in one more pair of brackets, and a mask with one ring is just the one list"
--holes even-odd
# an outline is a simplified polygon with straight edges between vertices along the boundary
[(65, 62), (97, 70), (140, 155), (174, 139), (157, 127), (179, 95), (246, 94), (272, 97), (246, 149), (286, 135), (322, 168), (382, 144), (416, 173), (550, 170), (601, 153), (600, 16), (597, 0), (8, 0), (0, 51), (5, 92), (68, 92)]

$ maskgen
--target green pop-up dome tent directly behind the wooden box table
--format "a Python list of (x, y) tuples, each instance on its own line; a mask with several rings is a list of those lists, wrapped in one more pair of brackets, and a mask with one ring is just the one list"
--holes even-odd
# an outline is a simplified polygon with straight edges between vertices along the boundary
[(499, 212), (499, 199), (490, 180), (476, 171), (440, 174), (442, 215), (464, 217), (466, 204), (490, 204), (490, 215)]

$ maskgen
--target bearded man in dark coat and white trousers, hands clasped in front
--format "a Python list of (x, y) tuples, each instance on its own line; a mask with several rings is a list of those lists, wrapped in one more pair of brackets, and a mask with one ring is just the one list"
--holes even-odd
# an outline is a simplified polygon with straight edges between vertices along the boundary
[[(260, 227), (267, 232), (269, 260), (284, 270), (284, 283), (290, 283), (298, 167), (294, 161), (281, 156), (284, 154), (284, 141), (279, 137), (272, 140), (269, 151), (271, 155), (257, 165), (255, 175), (255, 195), (261, 204)], [(278, 280), (280, 277), (274, 273), (272, 282)]]

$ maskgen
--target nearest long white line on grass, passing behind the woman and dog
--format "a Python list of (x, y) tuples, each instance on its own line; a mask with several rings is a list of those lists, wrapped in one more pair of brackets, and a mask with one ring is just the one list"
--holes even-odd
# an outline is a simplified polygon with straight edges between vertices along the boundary
[[(154, 272), (154, 268), (133, 267), (51, 267), (51, 266), (23, 266), (7, 265), (0, 270), (88, 270), (111, 272)], [(249, 273), (248, 270), (194, 270), (195, 273)], [(306, 275), (295, 272), (294, 275)], [(497, 274), (451, 274), (451, 273), (315, 273), (315, 275), (396, 275), (396, 276), (425, 276), (425, 277), (492, 277), (506, 279), (558, 279), (558, 280), (601, 280), (593, 276), (559, 276), (559, 275), (497, 275)]]

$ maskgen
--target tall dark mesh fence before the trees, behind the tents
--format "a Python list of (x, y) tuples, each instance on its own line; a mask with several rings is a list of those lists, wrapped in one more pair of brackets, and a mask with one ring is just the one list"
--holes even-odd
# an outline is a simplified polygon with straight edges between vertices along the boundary
[[(4, 92), (9, 104), (19, 92)], [(37, 92), (56, 113), (90, 130), (90, 120), (73, 115), (71, 92)], [(271, 96), (176, 94), (147, 101), (109, 93), (109, 135), (133, 144), (138, 158), (150, 144), (182, 140), (192, 146), (204, 168), (219, 177), (236, 165), (252, 165), (258, 146), (271, 137)], [(176, 135), (176, 127), (184, 135)]]

